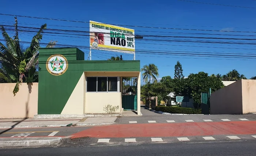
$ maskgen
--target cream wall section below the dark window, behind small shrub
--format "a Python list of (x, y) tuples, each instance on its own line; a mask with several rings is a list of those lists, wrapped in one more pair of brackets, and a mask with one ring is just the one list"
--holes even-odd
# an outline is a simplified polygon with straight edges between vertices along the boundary
[(120, 98), (121, 92), (108, 92), (108, 93), (90, 93), (86, 92), (85, 99), (85, 113), (106, 113), (103, 107), (110, 104), (112, 106), (118, 106), (117, 113), (120, 112)]

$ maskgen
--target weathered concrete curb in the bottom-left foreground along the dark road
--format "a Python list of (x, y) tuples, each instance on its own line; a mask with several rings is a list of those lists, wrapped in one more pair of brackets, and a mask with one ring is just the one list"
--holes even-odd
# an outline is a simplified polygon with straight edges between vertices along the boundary
[(52, 140), (12, 140), (12, 141), (0, 141), (0, 147), (38, 147), (38, 146), (50, 146), (57, 145), (61, 142), (61, 137), (57, 137)]

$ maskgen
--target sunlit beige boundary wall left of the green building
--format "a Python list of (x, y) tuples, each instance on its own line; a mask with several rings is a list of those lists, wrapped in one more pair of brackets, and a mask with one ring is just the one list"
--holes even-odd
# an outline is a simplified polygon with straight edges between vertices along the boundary
[(37, 114), (38, 83), (22, 83), (14, 96), (12, 91), (16, 83), (0, 84), (0, 118), (34, 117)]

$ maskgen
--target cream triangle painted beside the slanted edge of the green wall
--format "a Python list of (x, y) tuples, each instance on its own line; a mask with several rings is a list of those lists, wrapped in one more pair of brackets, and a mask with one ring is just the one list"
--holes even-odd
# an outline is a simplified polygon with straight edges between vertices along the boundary
[(81, 75), (76, 87), (71, 93), (61, 114), (83, 114), (84, 113), (84, 73)]

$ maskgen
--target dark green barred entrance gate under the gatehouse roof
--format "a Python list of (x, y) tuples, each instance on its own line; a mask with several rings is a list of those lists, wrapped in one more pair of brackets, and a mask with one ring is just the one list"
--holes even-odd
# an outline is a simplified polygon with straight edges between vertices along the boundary
[(137, 78), (123, 77), (122, 87), (122, 108), (137, 110)]

